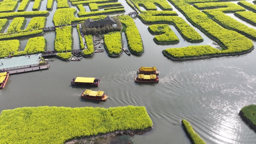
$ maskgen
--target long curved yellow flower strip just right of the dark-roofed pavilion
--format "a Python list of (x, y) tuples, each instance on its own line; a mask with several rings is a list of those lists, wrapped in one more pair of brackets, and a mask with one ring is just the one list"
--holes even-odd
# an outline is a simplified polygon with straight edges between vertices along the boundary
[(118, 17), (122, 24), (126, 26), (125, 36), (130, 52), (134, 55), (141, 55), (144, 52), (138, 28), (129, 15), (121, 15)]

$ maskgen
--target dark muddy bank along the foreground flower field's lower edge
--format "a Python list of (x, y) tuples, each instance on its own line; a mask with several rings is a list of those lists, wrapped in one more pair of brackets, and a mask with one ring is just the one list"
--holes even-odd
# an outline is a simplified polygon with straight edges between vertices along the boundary
[[(99, 143), (98, 140), (104, 141), (104, 144), (107, 144), (106, 142), (109, 141), (109, 144), (110, 144), (110, 142), (116, 139), (116, 137), (118, 136), (121, 136), (121, 135), (134, 136), (135, 134), (142, 135), (142, 134), (145, 134), (146, 132), (151, 131), (153, 128), (154, 126), (146, 129), (114, 131), (114, 132), (108, 132), (106, 134), (80, 137), (80, 138), (68, 140), (64, 144), (98, 144)], [(131, 143), (131, 142), (127, 142), (127, 143)]]

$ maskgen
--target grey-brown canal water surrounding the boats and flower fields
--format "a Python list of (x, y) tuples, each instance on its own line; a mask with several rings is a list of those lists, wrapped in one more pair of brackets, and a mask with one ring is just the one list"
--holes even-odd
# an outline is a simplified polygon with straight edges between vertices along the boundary
[[(46, 2), (43, 0), (41, 9)], [(127, 10), (125, 13), (133, 11), (124, 0), (119, 2)], [(55, 9), (56, 5), (55, 1)], [(51, 26), (52, 12), (47, 18), (47, 26)], [(241, 56), (171, 61), (164, 57), (162, 50), (189, 45), (214, 46), (214, 42), (195, 28), (204, 42), (189, 43), (170, 25), (180, 43), (156, 45), (154, 35), (147, 30), (149, 25), (138, 18), (134, 18), (134, 22), (143, 40), (145, 52), (142, 56), (123, 53), (119, 58), (110, 58), (103, 52), (81, 61), (65, 62), (56, 58), (49, 62), (48, 70), (11, 75), (4, 89), (0, 90), (0, 111), (44, 105), (105, 108), (138, 105), (146, 107), (154, 129), (144, 135), (120, 137), (129, 139), (133, 144), (190, 144), (181, 119), (188, 120), (207, 144), (255, 144), (255, 132), (238, 115), (242, 107), (256, 103), (255, 50)], [(74, 29), (74, 39), (78, 39), (77, 35)], [(46, 33), (44, 37), (48, 41), (48, 50), (53, 50), (55, 33)], [(124, 37), (122, 34), (127, 47)], [(27, 43), (27, 39), (23, 41)], [(256, 44), (255, 41), (253, 43)], [(73, 46), (74, 49), (79, 48), (78, 43)], [(25, 45), (22, 47), (24, 49)], [(134, 78), (141, 66), (159, 69), (159, 83), (135, 83)], [(71, 86), (74, 77), (99, 78), (100, 86)], [(105, 91), (109, 98), (105, 102), (81, 99), (80, 94), (85, 89)]]

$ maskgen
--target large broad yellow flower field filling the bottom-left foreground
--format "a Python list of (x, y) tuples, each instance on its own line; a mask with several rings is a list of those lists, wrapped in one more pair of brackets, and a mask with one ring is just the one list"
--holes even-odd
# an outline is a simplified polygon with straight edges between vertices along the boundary
[(145, 107), (22, 107), (3, 110), (0, 143), (63, 144), (65, 141), (117, 130), (153, 125)]

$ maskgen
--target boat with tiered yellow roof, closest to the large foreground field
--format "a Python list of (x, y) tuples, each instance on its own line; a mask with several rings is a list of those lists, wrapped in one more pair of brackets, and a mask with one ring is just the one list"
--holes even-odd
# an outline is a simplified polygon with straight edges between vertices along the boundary
[(104, 91), (92, 91), (90, 89), (86, 89), (81, 94), (81, 98), (105, 101), (108, 98), (108, 96), (104, 94)]

